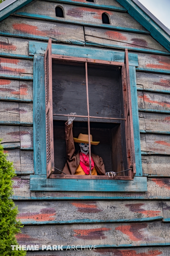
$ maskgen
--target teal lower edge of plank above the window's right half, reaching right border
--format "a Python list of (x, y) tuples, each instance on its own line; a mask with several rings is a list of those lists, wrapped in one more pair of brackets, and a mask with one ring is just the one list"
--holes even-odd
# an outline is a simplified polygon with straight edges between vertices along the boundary
[(126, 45), (126, 47), (121, 46), (121, 45), (114, 45), (114, 41), (112, 41), (112, 44), (105, 44), (105, 43), (101, 43), (101, 44), (97, 44), (97, 43), (93, 43), (93, 42), (85, 42), (85, 44), (91, 45), (91, 46), (103, 46), (103, 47), (109, 47), (109, 48), (122, 48), (123, 50), (125, 48), (129, 49), (129, 50), (133, 50), (133, 51), (139, 51), (139, 52), (146, 52), (146, 53), (156, 53), (156, 54), (163, 54), (163, 55), (170, 55), (170, 52), (165, 52), (165, 51), (159, 51), (159, 50), (155, 50), (155, 49), (151, 49), (151, 48), (139, 48), (139, 47), (132, 47), (132, 46), (128, 46), (128, 44)]

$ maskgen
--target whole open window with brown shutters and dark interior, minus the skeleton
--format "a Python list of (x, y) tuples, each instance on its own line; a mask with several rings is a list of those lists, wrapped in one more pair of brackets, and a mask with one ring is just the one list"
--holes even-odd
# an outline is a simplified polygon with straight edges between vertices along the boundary
[[(126, 68), (124, 62), (52, 55), (49, 39), (45, 55), (48, 178), (134, 178), (127, 50), (125, 56)], [(92, 152), (102, 157), (106, 172), (118, 172), (117, 176), (59, 174), (57, 169), (63, 170), (66, 163), (64, 123), (71, 112), (77, 114), (73, 137), (77, 138), (79, 133), (92, 134), (94, 141), (100, 141), (97, 146), (92, 145), (91, 150), (89, 145), (89, 155)]]

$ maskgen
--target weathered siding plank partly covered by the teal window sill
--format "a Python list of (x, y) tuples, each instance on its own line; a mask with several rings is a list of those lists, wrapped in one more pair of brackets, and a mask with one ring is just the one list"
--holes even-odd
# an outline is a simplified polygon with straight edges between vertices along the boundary
[(14, 200), (116, 200), (116, 199), (170, 199), (170, 178), (148, 177), (147, 192), (104, 191), (31, 191), (30, 180), (14, 179)]

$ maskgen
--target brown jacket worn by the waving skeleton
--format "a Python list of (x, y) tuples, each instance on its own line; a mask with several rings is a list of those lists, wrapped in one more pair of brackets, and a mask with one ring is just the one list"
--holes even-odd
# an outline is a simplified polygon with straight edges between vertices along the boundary
[[(66, 140), (66, 151), (67, 151), (67, 162), (64, 166), (63, 172), (66, 174), (75, 174), (77, 167), (80, 164), (80, 151), (74, 154), (74, 140), (73, 140), (73, 122), (71, 124), (65, 123), (65, 140)], [(97, 172), (100, 175), (105, 175), (105, 166), (100, 156), (91, 153)]]

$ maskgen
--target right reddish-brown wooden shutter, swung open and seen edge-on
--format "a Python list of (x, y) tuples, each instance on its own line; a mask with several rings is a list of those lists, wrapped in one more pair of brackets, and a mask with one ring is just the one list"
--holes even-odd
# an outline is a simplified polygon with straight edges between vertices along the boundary
[(134, 135), (133, 135), (128, 49), (125, 49), (125, 65), (126, 65), (126, 81), (127, 81), (127, 132), (128, 132), (126, 136), (128, 137), (126, 146), (127, 146), (128, 168), (133, 167), (131, 172), (132, 179), (133, 179), (136, 174), (136, 164), (135, 164), (135, 151), (134, 151)]

